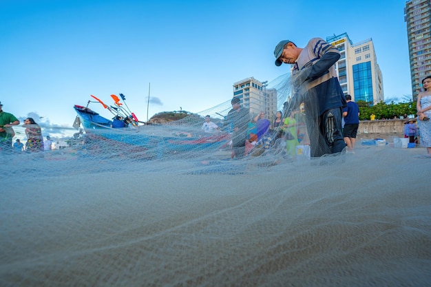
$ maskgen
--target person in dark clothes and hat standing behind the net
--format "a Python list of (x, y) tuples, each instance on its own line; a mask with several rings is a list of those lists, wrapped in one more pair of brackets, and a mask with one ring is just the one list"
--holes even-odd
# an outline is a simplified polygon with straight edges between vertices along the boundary
[(242, 158), (245, 153), (245, 143), (247, 139), (247, 128), (250, 123), (249, 109), (242, 107), (240, 98), (231, 100), (232, 109), (226, 116), (224, 125), (231, 124), (232, 132), (232, 156), (231, 158)]

